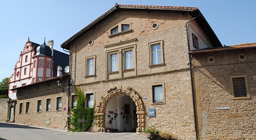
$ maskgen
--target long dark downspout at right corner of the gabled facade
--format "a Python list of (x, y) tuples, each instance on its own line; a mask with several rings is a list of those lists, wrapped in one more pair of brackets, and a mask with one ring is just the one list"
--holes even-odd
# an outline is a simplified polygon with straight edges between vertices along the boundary
[[(188, 22), (186, 22), (186, 33), (187, 33), (187, 41), (188, 41), (188, 51), (190, 52), (190, 43), (189, 43), (189, 34), (188, 34), (188, 23), (191, 22), (192, 20), (196, 19), (197, 17), (201, 16), (201, 12), (199, 13), (198, 16), (192, 18)], [(189, 55), (189, 71), (190, 71), (190, 80), (191, 80), (191, 92), (192, 92), (192, 102), (193, 102), (193, 113), (194, 113), (194, 127), (195, 127), (195, 138), (197, 140), (197, 134), (196, 134), (196, 105), (195, 105), (195, 100), (194, 100), (194, 88), (193, 88), (193, 80), (192, 80), (192, 68), (191, 68), (191, 61), (192, 61), (193, 55)]]

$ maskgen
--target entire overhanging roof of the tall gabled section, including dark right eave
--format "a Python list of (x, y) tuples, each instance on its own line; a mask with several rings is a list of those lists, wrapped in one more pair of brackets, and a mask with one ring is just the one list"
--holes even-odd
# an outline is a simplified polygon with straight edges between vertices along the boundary
[(213, 29), (210, 27), (206, 19), (202, 16), (201, 11), (197, 7), (179, 7), (179, 6), (142, 6), (142, 5), (119, 5), (116, 3), (113, 8), (105, 12), (103, 15), (95, 19), (95, 21), (91, 22), (89, 25), (87, 25), (85, 28), (77, 32), (77, 34), (74, 34), (71, 38), (67, 39), (64, 43), (61, 44), (61, 47), (64, 49), (69, 50), (70, 44), (72, 44), (72, 41), (76, 39), (77, 37), (81, 36), (83, 33), (85, 33), (90, 28), (94, 28), (95, 25), (98, 22), (101, 22), (105, 18), (107, 18), (109, 15), (113, 14), (115, 11), (119, 11), (121, 9), (144, 9), (144, 10), (169, 10), (169, 11), (187, 11), (190, 13), (192, 17), (196, 17), (200, 15), (198, 18), (196, 18), (196, 22), (198, 25), (202, 28), (204, 33), (208, 36), (208, 38), (211, 40), (214, 47), (222, 46), (220, 43), (220, 40), (217, 38), (216, 34), (214, 33)]

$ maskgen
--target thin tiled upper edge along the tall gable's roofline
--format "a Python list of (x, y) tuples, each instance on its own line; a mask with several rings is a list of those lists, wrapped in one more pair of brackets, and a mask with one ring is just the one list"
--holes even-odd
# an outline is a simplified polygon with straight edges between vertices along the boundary
[[(142, 5), (118, 5), (116, 3), (115, 6), (113, 6), (110, 10), (105, 12), (103, 15), (95, 19), (93, 22), (91, 22), (89, 25), (87, 25), (85, 28), (77, 32), (77, 34), (74, 34), (71, 38), (67, 39), (64, 43), (61, 44), (61, 47), (65, 48), (65, 45), (67, 45), (69, 42), (71, 42), (73, 39), (77, 38), (80, 34), (82, 34), (84, 31), (92, 27), (96, 22), (99, 22), (101, 19), (106, 17), (111, 12), (115, 11), (118, 8), (135, 8), (135, 9), (159, 9), (159, 10), (177, 10), (177, 11), (195, 11), (197, 10), (197, 7), (179, 7), (179, 6), (142, 6)], [(66, 48), (65, 48), (66, 49)]]

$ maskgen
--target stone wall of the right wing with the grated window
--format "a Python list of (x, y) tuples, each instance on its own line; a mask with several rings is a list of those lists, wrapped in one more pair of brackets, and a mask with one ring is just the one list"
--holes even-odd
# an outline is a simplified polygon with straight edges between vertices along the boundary
[[(255, 139), (256, 50), (250, 47), (256, 44), (249, 45), (245, 44), (243, 50), (193, 54), (196, 121), (200, 140)], [(240, 54), (245, 55), (244, 60), (240, 60)], [(215, 61), (208, 62), (209, 56)], [(230, 77), (237, 75), (247, 76), (249, 99), (234, 99)]]

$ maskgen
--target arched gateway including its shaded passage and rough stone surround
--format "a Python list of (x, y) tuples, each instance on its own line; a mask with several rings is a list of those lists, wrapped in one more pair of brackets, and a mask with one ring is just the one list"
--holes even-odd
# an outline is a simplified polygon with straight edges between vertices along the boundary
[[(124, 96), (125, 95), (125, 96)], [(131, 98), (131, 100), (133, 101), (133, 104), (130, 104), (129, 101), (125, 98), (127, 98), (127, 96), (129, 98)], [(119, 100), (119, 107), (122, 107), (122, 109), (119, 109), (119, 112), (116, 110), (114, 111), (109, 111), (107, 112), (108, 115), (113, 114), (112, 116), (110, 115), (111, 118), (113, 118), (114, 114), (117, 113), (118, 114), (118, 120), (119, 120), (119, 124), (115, 122), (113, 122), (112, 120), (112, 124), (116, 125), (116, 128), (119, 128), (119, 130), (131, 130), (131, 126), (134, 126), (133, 124), (137, 124), (137, 132), (140, 132), (141, 130), (143, 130), (145, 128), (145, 107), (144, 107), (144, 103), (142, 101), (141, 96), (137, 93), (136, 90), (133, 90), (131, 87), (127, 87), (126, 89), (117, 89), (117, 87), (114, 87), (110, 90), (107, 90), (107, 94), (104, 96), (101, 96), (101, 101), (99, 103), (98, 110), (97, 110), (97, 115), (98, 115), (98, 132), (105, 132), (105, 128), (109, 127), (109, 116), (106, 116), (106, 107), (107, 104), (109, 103), (109, 101), (113, 98), (119, 98), (122, 100)], [(113, 100), (116, 101), (116, 100)], [(125, 103), (126, 101), (126, 103)], [(128, 103), (127, 103), (128, 101)], [(111, 103), (109, 104), (111, 105)], [(130, 108), (131, 112), (127, 112), (127, 108)], [(133, 107), (134, 106), (134, 107)], [(135, 110), (136, 108), (136, 110)], [(132, 114), (133, 111), (136, 111), (135, 113), (137, 114), (137, 122), (132, 121)], [(122, 116), (122, 117), (121, 117)], [(124, 118), (123, 118), (124, 117)], [(111, 119), (110, 118), (110, 119)], [(131, 118), (131, 119), (130, 119)], [(129, 121), (131, 120), (131, 121)], [(117, 121), (117, 120), (116, 120)], [(121, 124), (120, 122), (123, 122), (123, 124)], [(106, 123), (108, 122), (108, 123)], [(130, 123), (129, 123), (130, 122)], [(107, 125), (106, 125), (107, 124)], [(128, 124), (125, 126), (125, 124)], [(113, 127), (113, 129), (115, 129), (115, 127)]]

